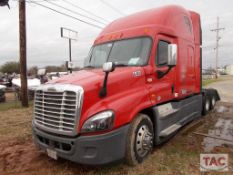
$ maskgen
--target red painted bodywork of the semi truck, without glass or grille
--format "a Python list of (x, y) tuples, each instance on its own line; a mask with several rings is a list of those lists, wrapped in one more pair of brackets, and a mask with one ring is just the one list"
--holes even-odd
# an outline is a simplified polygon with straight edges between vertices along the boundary
[[(191, 28), (184, 18), (191, 21)], [(82, 70), (53, 81), (84, 88), (78, 130), (88, 118), (106, 109), (115, 111), (114, 128), (118, 128), (129, 123), (141, 110), (174, 99), (174, 93), (178, 93), (178, 99), (200, 93), (199, 28), (200, 16), (197, 13), (179, 6), (166, 6), (120, 18), (103, 29), (94, 45), (148, 36), (153, 40), (152, 49), (147, 66), (116, 68), (109, 74), (108, 94), (103, 99), (98, 96), (104, 79), (102, 69)], [(157, 78), (156, 71), (165, 71), (168, 67), (155, 65), (158, 40), (178, 45), (177, 66), (162, 79)], [(141, 71), (141, 76), (133, 77), (134, 71)], [(172, 85), (174, 93), (171, 92)], [(182, 90), (186, 90), (186, 93), (182, 94)]]

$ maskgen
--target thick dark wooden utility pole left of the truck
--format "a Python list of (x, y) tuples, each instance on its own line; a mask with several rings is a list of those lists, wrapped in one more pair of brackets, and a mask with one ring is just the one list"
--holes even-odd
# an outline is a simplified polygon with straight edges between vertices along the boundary
[(20, 79), (21, 102), (23, 107), (28, 107), (27, 87), (27, 40), (26, 40), (26, 2), (19, 0), (19, 43), (20, 43)]

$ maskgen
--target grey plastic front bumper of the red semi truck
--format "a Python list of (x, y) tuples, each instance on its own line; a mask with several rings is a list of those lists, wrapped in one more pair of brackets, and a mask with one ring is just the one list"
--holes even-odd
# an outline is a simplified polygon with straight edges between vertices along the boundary
[(80, 164), (103, 165), (124, 158), (128, 129), (129, 125), (125, 125), (105, 134), (67, 138), (33, 126), (33, 137), (40, 149), (53, 149), (60, 158)]

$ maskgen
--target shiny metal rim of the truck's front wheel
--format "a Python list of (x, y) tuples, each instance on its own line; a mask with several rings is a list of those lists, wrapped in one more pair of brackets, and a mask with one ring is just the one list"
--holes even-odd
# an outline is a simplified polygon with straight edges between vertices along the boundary
[(136, 151), (140, 157), (144, 157), (152, 148), (153, 134), (148, 126), (142, 125), (136, 136)]

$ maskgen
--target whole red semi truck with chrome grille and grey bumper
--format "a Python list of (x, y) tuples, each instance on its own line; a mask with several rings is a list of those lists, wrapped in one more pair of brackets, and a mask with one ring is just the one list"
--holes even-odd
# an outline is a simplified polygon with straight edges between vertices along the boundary
[(113, 21), (83, 70), (37, 88), (35, 143), (54, 159), (141, 163), (220, 100), (202, 89), (201, 43), (199, 14), (179, 6)]

